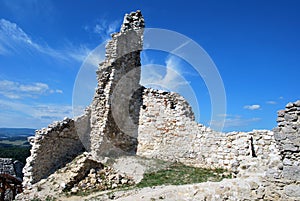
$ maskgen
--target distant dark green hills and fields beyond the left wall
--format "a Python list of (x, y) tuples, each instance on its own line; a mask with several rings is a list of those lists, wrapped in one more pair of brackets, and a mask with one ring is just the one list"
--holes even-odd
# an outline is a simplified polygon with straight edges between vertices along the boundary
[(25, 164), (31, 145), (27, 138), (34, 136), (35, 129), (0, 128), (0, 158), (13, 158)]

